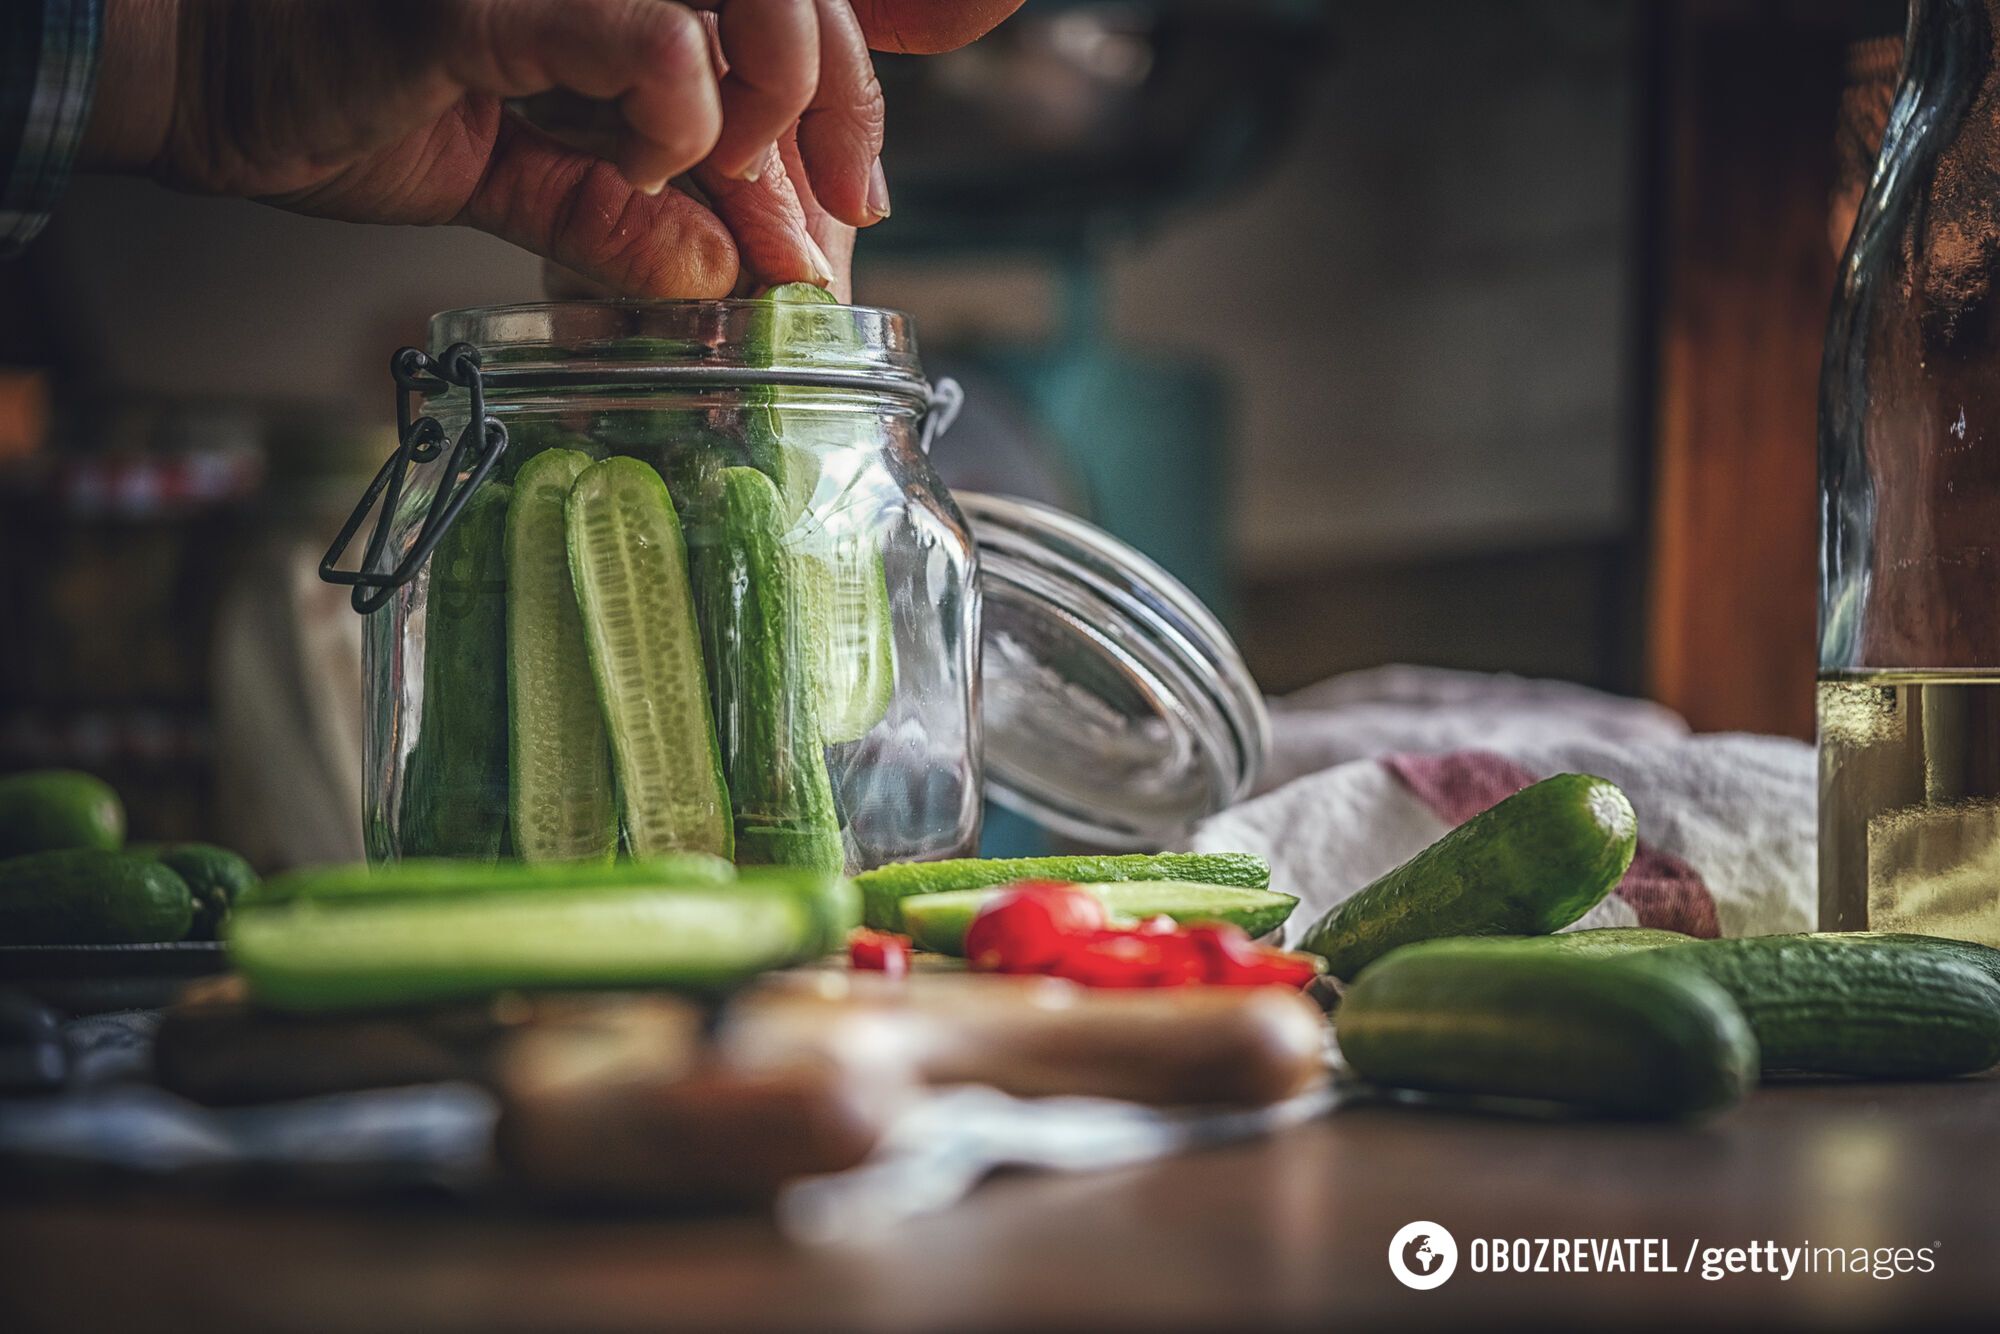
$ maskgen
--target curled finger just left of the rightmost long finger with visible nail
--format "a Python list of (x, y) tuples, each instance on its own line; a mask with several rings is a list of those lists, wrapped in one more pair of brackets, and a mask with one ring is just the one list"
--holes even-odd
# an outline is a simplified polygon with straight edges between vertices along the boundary
[(722, 44), (722, 134), (708, 166), (754, 180), (772, 144), (812, 102), (820, 82), (820, 18), (814, 0), (692, 0), (718, 8)]

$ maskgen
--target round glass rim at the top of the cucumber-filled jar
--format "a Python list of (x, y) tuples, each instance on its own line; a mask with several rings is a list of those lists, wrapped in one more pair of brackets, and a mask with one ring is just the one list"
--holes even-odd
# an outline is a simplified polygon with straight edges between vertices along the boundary
[[(776, 338), (772, 320), (806, 322)], [(548, 384), (798, 384), (930, 400), (916, 324), (880, 306), (724, 300), (558, 300), (430, 318), (430, 350), (480, 354), (496, 390)]]

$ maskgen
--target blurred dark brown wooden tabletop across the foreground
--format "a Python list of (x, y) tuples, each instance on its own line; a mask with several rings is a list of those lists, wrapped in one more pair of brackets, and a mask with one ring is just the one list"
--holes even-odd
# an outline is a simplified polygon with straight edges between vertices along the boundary
[[(1278, 1138), (1092, 1176), (1012, 1176), (866, 1242), (754, 1218), (0, 1202), (8, 1330), (1040, 1330), (1508, 1322), (1910, 1328), (2000, 1308), (2000, 1080), (1792, 1086), (1706, 1128), (1350, 1108)], [(1388, 1238), (1444, 1224), (1458, 1272), (1398, 1286)], [(1932, 1246), (1892, 1280), (1500, 1276), (1474, 1236)]]

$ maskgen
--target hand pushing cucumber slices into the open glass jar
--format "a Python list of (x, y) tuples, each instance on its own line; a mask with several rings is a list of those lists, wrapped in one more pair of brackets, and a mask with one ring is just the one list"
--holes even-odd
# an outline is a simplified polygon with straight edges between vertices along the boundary
[[(942, 50), (1018, 2), (110, 0), (84, 164), (466, 224), (636, 296), (838, 284), (828, 244), (888, 212), (868, 42)], [(616, 102), (612, 162), (502, 108), (550, 90)]]

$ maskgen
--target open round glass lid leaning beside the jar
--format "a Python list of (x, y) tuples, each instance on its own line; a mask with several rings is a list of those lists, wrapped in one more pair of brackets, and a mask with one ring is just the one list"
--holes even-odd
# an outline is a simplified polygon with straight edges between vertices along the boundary
[(1270, 716), (1228, 632), (1102, 528), (958, 492), (980, 552), (986, 790), (1104, 848), (1160, 848), (1240, 800)]

